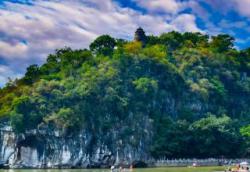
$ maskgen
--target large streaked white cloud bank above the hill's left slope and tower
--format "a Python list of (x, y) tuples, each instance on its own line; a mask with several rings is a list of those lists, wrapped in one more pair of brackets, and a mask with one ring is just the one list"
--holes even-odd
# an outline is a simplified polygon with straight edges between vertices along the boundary
[[(138, 26), (148, 34), (199, 31), (193, 15), (174, 15), (166, 20), (166, 15), (143, 14), (112, 0), (4, 3), (5, 7), (0, 8), (0, 61), (2, 58), (7, 62), (13, 73), (23, 73), (28, 65), (43, 62), (57, 48), (86, 48), (101, 34), (131, 39)], [(152, 4), (152, 8), (160, 6), (166, 12), (176, 13), (181, 4), (173, 0), (155, 0)], [(5, 73), (0, 76), (7, 77)]]

